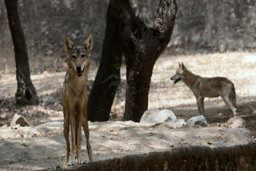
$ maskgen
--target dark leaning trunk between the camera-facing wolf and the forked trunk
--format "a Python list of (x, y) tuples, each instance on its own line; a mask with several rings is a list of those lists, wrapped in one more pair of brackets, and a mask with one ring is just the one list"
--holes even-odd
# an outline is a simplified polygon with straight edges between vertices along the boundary
[(108, 121), (116, 89), (120, 83), (122, 47), (118, 37), (113, 6), (106, 16), (106, 33), (102, 46), (102, 59), (88, 100), (88, 119)]

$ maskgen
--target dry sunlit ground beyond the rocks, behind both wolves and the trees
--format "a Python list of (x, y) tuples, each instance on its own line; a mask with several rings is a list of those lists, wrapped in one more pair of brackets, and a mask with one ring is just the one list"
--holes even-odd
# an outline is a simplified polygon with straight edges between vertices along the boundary
[[(193, 93), (182, 82), (174, 85), (170, 77), (178, 68), (178, 62), (184, 62), (194, 74), (203, 77), (226, 77), (234, 82), (238, 115), (248, 121), (248, 128), (256, 133), (256, 54), (255, 53), (224, 53), (198, 54), (187, 56), (162, 56), (154, 66), (150, 84), (149, 109), (171, 109), (178, 118), (187, 120), (198, 115), (198, 109)], [(56, 63), (56, 62), (55, 62)], [(63, 66), (61, 64), (61, 66)], [(58, 70), (60, 66), (58, 66)], [(89, 74), (90, 90), (97, 72), (92, 67)], [(110, 120), (122, 121), (125, 92), (126, 69), (122, 66), (122, 82), (114, 98)], [(25, 116), (31, 125), (46, 121), (63, 121), (62, 118), (62, 82), (65, 71), (45, 71), (42, 74), (32, 74), (31, 78), (37, 89), (40, 104), (20, 107), (15, 105), (16, 91), (15, 74), (0, 73), (0, 125), (10, 124), (15, 113)], [(89, 91), (90, 92), (90, 91)], [(232, 113), (220, 97), (206, 98), (206, 119), (211, 125), (227, 121)]]

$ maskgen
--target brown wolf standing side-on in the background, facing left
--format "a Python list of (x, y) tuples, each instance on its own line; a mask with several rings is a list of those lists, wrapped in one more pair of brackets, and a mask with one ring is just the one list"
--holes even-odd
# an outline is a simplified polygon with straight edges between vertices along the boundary
[(174, 84), (184, 82), (194, 93), (197, 99), (199, 113), (205, 116), (204, 98), (221, 96), (226, 105), (236, 115), (236, 95), (234, 84), (227, 78), (202, 78), (186, 70), (184, 64), (178, 63), (179, 67), (172, 78)]

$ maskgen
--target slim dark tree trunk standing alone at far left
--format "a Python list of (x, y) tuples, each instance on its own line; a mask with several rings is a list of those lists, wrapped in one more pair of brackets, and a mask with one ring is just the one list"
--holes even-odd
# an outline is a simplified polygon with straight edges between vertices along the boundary
[(30, 79), (29, 59), (22, 26), (18, 18), (17, 0), (5, 0), (10, 33), (14, 43), (16, 78), (18, 89), (15, 94), (18, 105), (37, 105), (38, 96)]

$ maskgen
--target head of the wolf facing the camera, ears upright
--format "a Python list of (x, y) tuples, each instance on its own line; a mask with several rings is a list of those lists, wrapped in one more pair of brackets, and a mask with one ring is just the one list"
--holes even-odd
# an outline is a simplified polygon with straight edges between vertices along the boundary
[(90, 65), (90, 51), (93, 49), (93, 36), (89, 34), (83, 46), (75, 46), (68, 37), (64, 38), (64, 46), (68, 57), (68, 66), (81, 77), (86, 66)]

